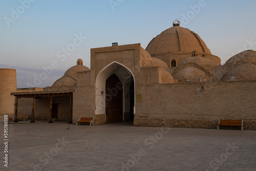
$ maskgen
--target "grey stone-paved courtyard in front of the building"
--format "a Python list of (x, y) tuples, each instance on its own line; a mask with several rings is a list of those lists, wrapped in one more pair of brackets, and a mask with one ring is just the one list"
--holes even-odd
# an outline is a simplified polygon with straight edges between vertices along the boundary
[[(3, 121), (0, 125), (3, 133)], [(132, 122), (20, 121), (8, 128), (8, 167), (1, 143), (0, 170), (256, 170), (256, 131), (136, 127)]]

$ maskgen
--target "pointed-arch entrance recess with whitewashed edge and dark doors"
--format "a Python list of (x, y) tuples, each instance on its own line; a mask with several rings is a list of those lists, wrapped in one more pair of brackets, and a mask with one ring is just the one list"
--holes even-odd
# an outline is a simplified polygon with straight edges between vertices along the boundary
[[(135, 79), (129, 68), (116, 61), (110, 63), (97, 75), (95, 86), (95, 114), (104, 115), (105, 123), (128, 121), (131, 120), (131, 117), (133, 118)], [(111, 98), (113, 101), (108, 101)], [(112, 104), (116, 105), (111, 107)]]

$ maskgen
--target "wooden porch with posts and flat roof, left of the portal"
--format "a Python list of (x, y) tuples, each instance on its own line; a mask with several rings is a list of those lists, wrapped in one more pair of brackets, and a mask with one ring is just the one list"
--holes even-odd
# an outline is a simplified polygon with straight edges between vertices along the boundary
[(52, 121), (52, 97), (55, 96), (68, 96), (70, 97), (70, 106), (69, 106), (69, 122), (68, 123), (73, 123), (72, 122), (72, 96), (73, 96), (73, 90), (70, 91), (42, 91), (42, 92), (18, 92), (18, 93), (11, 93), (11, 96), (15, 96), (15, 119), (14, 122), (18, 122), (18, 98), (33, 98), (33, 104), (32, 104), (32, 119), (30, 122), (35, 122), (34, 120), (34, 103), (35, 103), (35, 98), (38, 97), (50, 97), (51, 102), (50, 102), (50, 120), (48, 123), (53, 123)]

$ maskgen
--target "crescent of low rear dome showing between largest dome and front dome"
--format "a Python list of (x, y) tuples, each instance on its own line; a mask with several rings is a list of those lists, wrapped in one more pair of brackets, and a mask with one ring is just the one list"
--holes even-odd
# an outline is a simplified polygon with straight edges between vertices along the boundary
[(204, 58), (204, 57), (200, 57), (200, 56), (195, 56), (195, 57), (190, 57), (187, 58), (185, 60), (182, 60), (178, 66), (177, 69), (183, 65), (185, 65), (186, 63), (196, 63), (197, 65), (207, 69), (208, 71), (211, 71), (212, 69), (215, 68), (215, 63), (212, 62), (210, 59)]

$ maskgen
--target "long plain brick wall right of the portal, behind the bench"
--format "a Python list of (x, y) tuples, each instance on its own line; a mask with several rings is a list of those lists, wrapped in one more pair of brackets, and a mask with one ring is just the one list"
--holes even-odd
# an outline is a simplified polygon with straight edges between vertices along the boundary
[(256, 80), (140, 85), (134, 125), (217, 127), (218, 119), (243, 119), (256, 130)]

